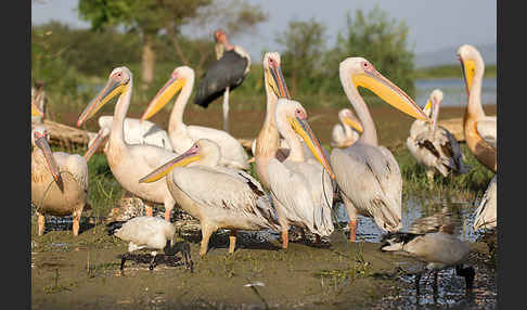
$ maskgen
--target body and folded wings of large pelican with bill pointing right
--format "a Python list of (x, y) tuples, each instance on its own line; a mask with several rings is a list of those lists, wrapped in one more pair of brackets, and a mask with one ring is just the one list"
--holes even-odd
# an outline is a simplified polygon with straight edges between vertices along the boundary
[(359, 142), (345, 150), (334, 148), (331, 165), (342, 193), (359, 214), (373, 217), (385, 231), (401, 227), (402, 179), (387, 148)]

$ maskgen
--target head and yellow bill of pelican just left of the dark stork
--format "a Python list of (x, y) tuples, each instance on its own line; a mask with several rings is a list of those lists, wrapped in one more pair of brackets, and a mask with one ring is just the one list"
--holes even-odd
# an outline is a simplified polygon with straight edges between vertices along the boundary
[(189, 80), (194, 81), (194, 70), (188, 66), (180, 66), (173, 69), (170, 79), (156, 93), (154, 99), (141, 116), (141, 120), (145, 120), (154, 116), (162, 109), (170, 99), (172, 99), (178, 91), (180, 91)]

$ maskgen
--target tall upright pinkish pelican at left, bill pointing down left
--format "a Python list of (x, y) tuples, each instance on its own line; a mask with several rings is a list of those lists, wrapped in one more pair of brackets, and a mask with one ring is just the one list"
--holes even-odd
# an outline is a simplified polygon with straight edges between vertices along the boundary
[[(85, 108), (77, 127), (93, 117), (110, 100), (119, 95), (115, 105), (112, 130), (106, 145), (106, 159), (110, 169), (119, 184), (145, 203), (145, 214), (152, 216), (152, 204), (164, 204), (165, 220), (170, 215), (176, 202), (165, 183), (144, 184), (139, 179), (172, 158), (173, 152), (149, 144), (128, 144), (125, 140), (125, 117), (131, 102), (133, 76), (127, 67), (117, 67), (110, 74), (106, 86)], [(93, 143), (98, 146), (98, 143)]]

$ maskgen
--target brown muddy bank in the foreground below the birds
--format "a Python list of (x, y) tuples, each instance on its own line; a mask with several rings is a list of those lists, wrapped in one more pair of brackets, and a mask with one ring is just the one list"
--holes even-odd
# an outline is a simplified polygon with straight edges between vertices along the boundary
[[(243, 240), (250, 240), (249, 235), (239, 237), (236, 251), (229, 255), (227, 240), (227, 234), (216, 234), (204, 259), (198, 258), (198, 243), (190, 240), (193, 273), (163, 263), (151, 272), (147, 263), (127, 261), (123, 275), (117, 256), (126, 251), (127, 245), (107, 236), (103, 225), (85, 230), (75, 240), (69, 231), (34, 234), (31, 308), (371, 309), (375, 305), (397, 308), (406, 301), (389, 305), (385, 298), (403, 298), (403, 292), (411, 300), (400, 269), (414, 262), (381, 253), (378, 243), (349, 244), (342, 230), (332, 234), (330, 246), (291, 243), (287, 250), (280, 249), (272, 238), (244, 243)], [(474, 245), (477, 249), (478, 243)], [(479, 247), (480, 251), (486, 250), (485, 245)], [(448, 282), (451, 276), (442, 277), (448, 277), (445, 280)], [(481, 279), (478, 275), (476, 288)], [(445, 294), (450, 289), (460, 295), (462, 289), (457, 285), (463, 287), (463, 280), (454, 281), (461, 284), (448, 285)], [(264, 286), (245, 286), (250, 283)], [(464, 296), (448, 299), (465, 300)]]

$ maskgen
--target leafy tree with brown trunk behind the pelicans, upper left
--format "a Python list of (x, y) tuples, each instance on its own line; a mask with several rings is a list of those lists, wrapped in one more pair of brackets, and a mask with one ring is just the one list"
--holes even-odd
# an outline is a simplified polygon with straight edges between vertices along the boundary
[[(188, 57), (179, 42), (181, 27), (196, 18), (210, 16), (215, 12), (207, 9), (215, 8), (216, 2), (214, 0), (79, 0), (78, 10), (80, 17), (89, 21), (93, 30), (121, 25), (127, 31), (137, 31), (141, 35), (141, 77), (143, 86), (147, 86), (154, 78), (154, 47), (162, 30), (171, 39), (183, 64), (188, 64)], [(258, 9), (258, 7), (250, 8)], [(258, 16), (260, 12), (253, 13)], [(256, 18), (255, 23), (261, 20)]]

